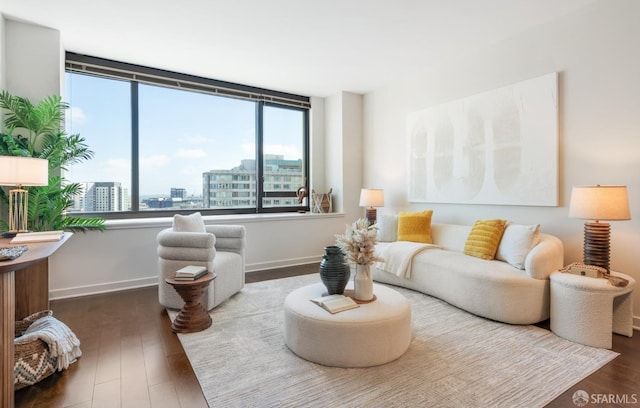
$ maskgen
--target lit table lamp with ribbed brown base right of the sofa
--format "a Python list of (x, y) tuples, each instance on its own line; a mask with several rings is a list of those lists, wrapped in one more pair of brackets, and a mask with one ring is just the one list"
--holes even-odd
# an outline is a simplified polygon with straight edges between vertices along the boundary
[(610, 272), (611, 226), (600, 221), (630, 220), (627, 186), (580, 186), (571, 191), (569, 217), (584, 223), (583, 262)]

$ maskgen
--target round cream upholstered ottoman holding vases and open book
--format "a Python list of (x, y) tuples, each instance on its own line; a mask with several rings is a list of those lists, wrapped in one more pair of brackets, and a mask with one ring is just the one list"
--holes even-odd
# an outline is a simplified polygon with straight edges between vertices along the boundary
[(305, 360), (333, 367), (371, 367), (402, 356), (411, 342), (411, 307), (397, 291), (373, 285), (376, 300), (331, 314), (310, 299), (322, 283), (291, 292), (284, 301), (285, 343)]

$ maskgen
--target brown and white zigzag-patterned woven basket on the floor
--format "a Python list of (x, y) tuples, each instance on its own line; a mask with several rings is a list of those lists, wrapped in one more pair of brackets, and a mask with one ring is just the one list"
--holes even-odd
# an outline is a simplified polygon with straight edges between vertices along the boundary
[[(52, 316), (51, 310), (34, 313), (16, 322), (15, 337), (18, 339), (36, 320)], [(50, 376), (56, 371), (56, 359), (51, 357), (47, 343), (34, 339), (27, 343), (16, 343), (14, 353), (14, 389), (19, 390)]]

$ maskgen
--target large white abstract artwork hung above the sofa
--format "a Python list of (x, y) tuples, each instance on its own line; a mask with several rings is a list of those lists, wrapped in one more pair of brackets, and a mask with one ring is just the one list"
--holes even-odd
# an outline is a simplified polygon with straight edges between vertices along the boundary
[(558, 205), (557, 73), (407, 116), (409, 201)]

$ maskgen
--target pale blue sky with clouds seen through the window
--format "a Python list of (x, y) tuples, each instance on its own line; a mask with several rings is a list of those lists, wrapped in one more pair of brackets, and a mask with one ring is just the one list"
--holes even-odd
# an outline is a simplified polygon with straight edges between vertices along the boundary
[[(72, 167), (72, 181), (119, 181), (130, 188), (130, 85), (67, 74), (67, 131), (87, 140), (95, 157)], [(140, 85), (140, 194), (171, 187), (202, 193), (202, 172), (231, 169), (255, 156), (253, 102)], [(265, 111), (265, 153), (302, 158), (298, 112)], [(293, 117), (297, 117), (293, 116)], [(301, 116), (300, 116), (301, 117)]]

